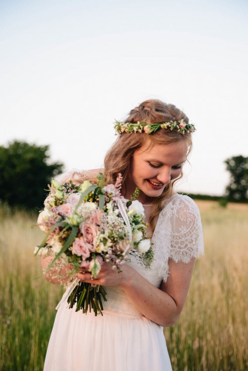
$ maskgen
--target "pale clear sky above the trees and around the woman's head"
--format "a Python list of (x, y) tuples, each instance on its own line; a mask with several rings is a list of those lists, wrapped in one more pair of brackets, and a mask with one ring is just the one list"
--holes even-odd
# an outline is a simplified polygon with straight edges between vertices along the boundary
[(158, 98), (197, 127), (179, 189), (223, 194), (248, 156), (247, 20), (246, 0), (1, 0), (0, 145), (98, 168), (114, 119)]

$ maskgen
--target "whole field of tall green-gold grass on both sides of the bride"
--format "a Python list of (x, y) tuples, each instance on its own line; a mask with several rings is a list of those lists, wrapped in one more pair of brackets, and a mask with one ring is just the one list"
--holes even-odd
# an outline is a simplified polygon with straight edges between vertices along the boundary
[[(198, 201), (205, 255), (165, 328), (173, 371), (248, 370), (248, 205)], [(42, 277), (36, 217), (0, 209), (0, 370), (41, 371), (63, 288)], [(155, 370), (154, 370), (155, 371)]]

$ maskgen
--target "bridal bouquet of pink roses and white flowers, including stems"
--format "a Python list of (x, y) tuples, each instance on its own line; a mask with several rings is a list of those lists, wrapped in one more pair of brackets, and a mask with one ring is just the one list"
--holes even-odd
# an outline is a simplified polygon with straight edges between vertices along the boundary
[[(133, 254), (149, 268), (153, 259), (150, 240), (146, 239), (144, 208), (134, 194), (127, 201), (120, 193), (122, 177), (115, 185), (104, 185), (98, 174), (98, 185), (84, 181), (60, 184), (52, 180), (44, 209), (38, 217), (38, 226), (46, 237), (35, 254), (50, 256), (46, 274), (73, 284), (79, 270), (89, 271), (96, 278), (102, 261), (110, 262), (121, 272), (121, 266)], [(106, 301), (103, 286), (79, 282), (68, 297), (70, 308), (76, 311), (102, 315), (102, 299)]]

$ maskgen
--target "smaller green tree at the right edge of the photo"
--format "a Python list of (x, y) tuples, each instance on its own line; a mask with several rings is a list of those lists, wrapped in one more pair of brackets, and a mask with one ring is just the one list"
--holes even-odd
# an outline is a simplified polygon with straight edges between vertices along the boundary
[(234, 156), (225, 160), (230, 172), (230, 184), (226, 187), (226, 197), (230, 201), (248, 202), (248, 157)]

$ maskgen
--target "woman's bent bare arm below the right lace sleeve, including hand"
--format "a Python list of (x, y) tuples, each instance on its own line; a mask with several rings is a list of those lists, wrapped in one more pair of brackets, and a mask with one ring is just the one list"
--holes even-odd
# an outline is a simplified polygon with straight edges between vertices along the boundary
[[(110, 263), (103, 263), (94, 283), (105, 286), (121, 286), (136, 308), (149, 320), (161, 326), (171, 326), (177, 321), (189, 290), (195, 265), (175, 263), (169, 260), (170, 275), (160, 288), (153, 286), (134, 268), (124, 265), (122, 273), (112, 269)], [(91, 282), (89, 273), (79, 273), (78, 278)]]

